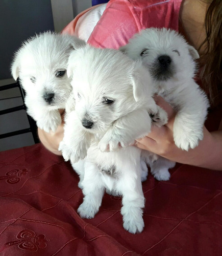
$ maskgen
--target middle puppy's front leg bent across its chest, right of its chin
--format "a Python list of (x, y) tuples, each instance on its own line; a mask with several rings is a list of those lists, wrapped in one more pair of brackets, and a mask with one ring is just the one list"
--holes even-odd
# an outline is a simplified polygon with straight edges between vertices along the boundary
[(115, 121), (98, 143), (98, 148), (105, 152), (127, 147), (135, 139), (145, 136), (150, 130), (151, 118), (147, 110), (135, 110)]

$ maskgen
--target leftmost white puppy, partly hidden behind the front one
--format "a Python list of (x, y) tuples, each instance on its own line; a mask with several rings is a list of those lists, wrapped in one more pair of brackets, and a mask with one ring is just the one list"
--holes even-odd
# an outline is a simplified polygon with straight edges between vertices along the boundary
[(85, 42), (68, 34), (45, 32), (23, 42), (11, 66), (13, 78), (19, 77), (26, 92), (27, 113), (46, 132), (61, 123), (59, 109), (72, 87), (67, 77), (68, 57)]

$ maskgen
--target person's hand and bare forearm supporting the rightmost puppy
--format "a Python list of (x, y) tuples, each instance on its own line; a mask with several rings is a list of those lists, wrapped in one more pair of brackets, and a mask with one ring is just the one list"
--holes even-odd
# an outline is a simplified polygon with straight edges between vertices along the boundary
[(222, 170), (222, 120), (218, 131), (210, 133), (204, 126), (204, 138), (199, 145), (188, 152), (183, 151), (175, 145), (172, 136), (174, 111), (160, 97), (157, 103), (168, 113), (169, 121), (162, 127), (153, 126), (151, 133), (137, 140), (136, 145), (175, 162)]

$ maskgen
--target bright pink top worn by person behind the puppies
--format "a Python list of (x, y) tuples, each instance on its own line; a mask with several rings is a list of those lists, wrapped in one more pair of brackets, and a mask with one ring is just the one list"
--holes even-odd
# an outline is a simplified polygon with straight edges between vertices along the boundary
[(118, 49), (141, 29), (165, 27), (178, 31), (181, 2), (110, 0), (88, 43), (94, 47)]

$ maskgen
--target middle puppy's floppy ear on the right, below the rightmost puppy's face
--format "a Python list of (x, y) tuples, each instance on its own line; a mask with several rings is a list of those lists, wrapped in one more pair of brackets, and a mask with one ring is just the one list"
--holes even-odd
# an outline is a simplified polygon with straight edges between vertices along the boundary
[(142, 100), (153, 95), (153, 82), (150, 72), (141, 63), (136, 68), (132, 76), (133, 96), (135, 101)]

